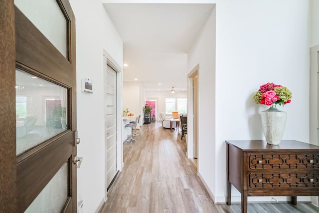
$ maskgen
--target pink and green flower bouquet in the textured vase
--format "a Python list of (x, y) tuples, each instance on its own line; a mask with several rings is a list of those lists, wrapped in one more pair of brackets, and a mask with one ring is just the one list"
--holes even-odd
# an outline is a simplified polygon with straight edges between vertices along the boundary
[(265, 104), (266, 106), (288, 104), (291, 102), (291, 97), (292, 93), (287, 87), (274, 83), (261, 85), (253, 96), (256, 104)]

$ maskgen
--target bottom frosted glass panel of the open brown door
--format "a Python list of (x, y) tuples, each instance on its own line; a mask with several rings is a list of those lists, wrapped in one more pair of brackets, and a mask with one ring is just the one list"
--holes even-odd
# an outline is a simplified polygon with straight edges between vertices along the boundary
[(65, 163), (24, 213), (60, 213), (68, 198), (68, 165)]

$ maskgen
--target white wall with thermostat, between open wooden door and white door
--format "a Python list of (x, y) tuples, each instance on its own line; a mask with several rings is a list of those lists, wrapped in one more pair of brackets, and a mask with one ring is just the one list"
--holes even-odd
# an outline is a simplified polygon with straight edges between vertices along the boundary
[[(86, 213), (104, 202), (103, 49), (122, 66), (123, 44), (100, 0), (70, 0), (76, 18), (78, 199)], [(81, 92), (81, 79), (93, 80), (93, 94)]]

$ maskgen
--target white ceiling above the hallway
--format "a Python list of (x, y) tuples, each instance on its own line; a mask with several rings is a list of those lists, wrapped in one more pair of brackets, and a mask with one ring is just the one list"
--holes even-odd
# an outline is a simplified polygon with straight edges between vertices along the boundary
[(123, 40), (124, 82), (138, 81), (146, 90), (186, 90), (187, 52), (214, 4), (103, 4)]

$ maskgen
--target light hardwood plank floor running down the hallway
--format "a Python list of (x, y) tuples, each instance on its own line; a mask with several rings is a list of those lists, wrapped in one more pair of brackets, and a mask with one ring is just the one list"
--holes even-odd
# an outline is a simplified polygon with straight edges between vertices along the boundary
[[(143, 125), (125, 142), (124, 169), (101, 213), (240, 213), (240, 204), (214, 205), (186, 158), (185, 138), (160, 122)], [(248, 204), (248, 213), (319, 213), (310, 203)]]

